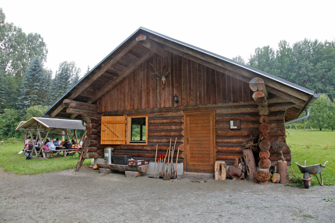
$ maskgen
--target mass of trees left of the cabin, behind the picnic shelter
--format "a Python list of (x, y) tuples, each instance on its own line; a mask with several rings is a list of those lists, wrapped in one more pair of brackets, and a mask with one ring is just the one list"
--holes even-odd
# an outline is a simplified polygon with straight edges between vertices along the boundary
[(44, 67), (47, 54), (47, 44), (39, 33), (26, 34), (7, 22), (0, 8), (1, 139), (20, 137), (15, 131), (20, 121), (41, 117), (82, 76), (74, 61), (63, 61), (53, 78), (53, 71)]

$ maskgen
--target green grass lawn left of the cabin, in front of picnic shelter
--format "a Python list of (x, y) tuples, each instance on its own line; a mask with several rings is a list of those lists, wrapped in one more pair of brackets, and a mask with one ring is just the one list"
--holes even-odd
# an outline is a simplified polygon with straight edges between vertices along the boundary
[[(23, 143), (22, 143), (23, 144)], [(67, 170), (74, 168), (78, 162), (77, 158), (71, 159), (70, 156), (64, 158), (55, 157), (51, 159), (28, 159), (26, 160), (23, 154), (17, 154), (23, 145), (4, 144), (0, 145), (0, 166), (4, 171), (9, 171), (15, 174), (43, 174), (59, 170)], [(55, 153), (56, 154), (56, 153)], [(49, 154), (50, 155), (50, 154)], [(57, 156), (57, 155), (56, 155)], [(90, 165), (91, 159), (85, 159), (83, 165)]]

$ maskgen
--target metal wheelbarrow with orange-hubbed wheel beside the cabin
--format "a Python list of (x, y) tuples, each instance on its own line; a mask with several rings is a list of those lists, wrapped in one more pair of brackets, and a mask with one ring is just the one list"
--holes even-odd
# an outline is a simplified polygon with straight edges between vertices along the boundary
[[(325, 167), (325, 165), (326, 165), (327, 162), (328, 161), (326, 161), (325, 164), (323, 164), (323, 165), (321, 165), (319, 163), (319, 164), (315, 164), (315, 165), (311, 165), (311, 166), (306, 166), (306, 160), (305, 160), (304, 166), (302, 166), (299, 163), (295, 162), (295, 164), (298, 165), (298, 168), (299, 168), (300, 172), (304, 174), (304, 177), (302, 178), (302, 180), (304, 181), (305, 188), (310, 188), (311, 187), (311, 179), (314, 176), (316, 176), (316, 179), (318, 179), (319, 184), (321, 186), (323, 185), (321, 171), (323, 170), (323, 168)], [(317, 174), (320, 174), (321, 183), (320, 183), (320, 180), (319, 180)], [(313, 175), (313, 176), (311, 177), (311, 175)]]

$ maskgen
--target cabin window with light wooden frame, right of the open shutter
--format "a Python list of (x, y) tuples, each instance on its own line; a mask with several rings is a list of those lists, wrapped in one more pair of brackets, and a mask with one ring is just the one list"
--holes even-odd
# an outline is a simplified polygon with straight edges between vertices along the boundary
[(148, 144), (148, 115), (127, 115), (127, 144)]

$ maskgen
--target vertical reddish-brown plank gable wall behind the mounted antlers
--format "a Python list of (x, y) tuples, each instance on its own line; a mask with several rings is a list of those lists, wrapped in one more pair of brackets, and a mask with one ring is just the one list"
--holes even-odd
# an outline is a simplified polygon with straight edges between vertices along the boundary
[[(171, 71), (163, 85), (157, 75), (169, 70), (167, 57), (152, 55), (113, 89), (97, 100), (98, 112), (153, 109), (177, 106), (250, 102), (249, 85), (173, 53), (169, 53)], [(175, 105), (173, 95), (178, 95)]]

